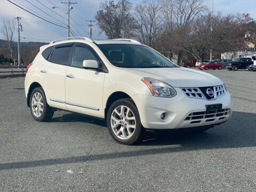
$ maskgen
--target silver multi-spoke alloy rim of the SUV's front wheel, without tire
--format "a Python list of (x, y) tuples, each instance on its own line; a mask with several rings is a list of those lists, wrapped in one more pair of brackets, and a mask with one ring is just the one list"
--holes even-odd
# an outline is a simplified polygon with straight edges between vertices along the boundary
[(133, 111), (127, 106), (116, 107), (111, 114), (110, 124), (116, 137), (122, 140), (129, 139), (136, 127)]

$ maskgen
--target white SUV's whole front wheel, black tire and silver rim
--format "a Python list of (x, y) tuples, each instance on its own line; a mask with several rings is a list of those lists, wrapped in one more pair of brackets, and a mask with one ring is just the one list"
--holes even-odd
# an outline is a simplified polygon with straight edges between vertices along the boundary
[(109, 107), (107, 126), (111, 137), (123, 145), (132, 145), (143, 137), (139, 111), (130, 98), (119, 99)]

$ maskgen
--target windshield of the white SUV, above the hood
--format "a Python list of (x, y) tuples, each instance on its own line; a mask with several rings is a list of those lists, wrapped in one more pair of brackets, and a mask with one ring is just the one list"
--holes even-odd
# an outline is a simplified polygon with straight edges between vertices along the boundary
[(101, 44), (99, 49), (116, 67), (125, 68), (173, 68), (174, 63), (144, 45)]

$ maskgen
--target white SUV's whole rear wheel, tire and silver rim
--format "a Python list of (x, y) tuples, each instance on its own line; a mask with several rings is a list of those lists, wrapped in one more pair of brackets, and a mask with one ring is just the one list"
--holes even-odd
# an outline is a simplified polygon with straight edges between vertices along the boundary
[(42, 87), (36, 87), (30, 95), (30, 112), (39, 122), (50, 121), (54, 114), (53, 108), (47, 104)]

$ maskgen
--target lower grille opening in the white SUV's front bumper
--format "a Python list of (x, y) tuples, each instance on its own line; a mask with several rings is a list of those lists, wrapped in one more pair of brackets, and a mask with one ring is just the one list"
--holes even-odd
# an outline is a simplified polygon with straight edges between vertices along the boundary
[(225, 119), (230, 114), (230, 109), (222, 109), (220, 112), (218, 110), (212, 110), (210, 113), (206, 114), (206, 111), (190, 113), (186, 118), (185, 122), (190, 122), (189, 124), (212, 122)]

